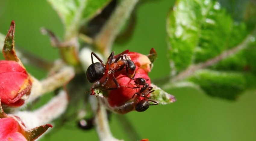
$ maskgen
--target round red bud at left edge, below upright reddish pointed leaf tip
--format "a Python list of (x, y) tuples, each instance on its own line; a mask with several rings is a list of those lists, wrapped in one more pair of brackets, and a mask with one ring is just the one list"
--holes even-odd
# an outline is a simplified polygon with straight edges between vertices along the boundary
[(26, 69), (16, 61), (0, 60), (1, 103), (8, 106), (24, 104), (24, 95), (30, 94), (31, 78)]

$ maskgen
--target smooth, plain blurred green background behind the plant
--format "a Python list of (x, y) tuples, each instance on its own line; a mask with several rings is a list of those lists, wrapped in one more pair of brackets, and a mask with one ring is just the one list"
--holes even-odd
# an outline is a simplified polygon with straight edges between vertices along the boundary
[[(151, 79), (162, 78), (170, 73), (167, 59), (167, 34), (165, 31), (168, 10), (174, 4), (170, 0), (154, 0), (137, 7), (137, 24), (133, 37), (127, 44), (115, 44), (113, 50), (125, 49), (148, 54), (154, 47), (158, 59), (149, 74)], [(58, 50), (50, 46), (47, 36), (41, 35), (40, 27), (51, 29), (60, 38), (63, 27), (58, 15), (46, 1), (0, 1), (0, 32), (6, 34), (11, 20), (15, 20), (15, 43), (47, 60), (59, 57)], [(0, 57), (2, 58), (2, 56)], [(27, 66), (38, 79), (46, 72)], [(237, 101), (212, 98), (193, 89), (167, 91), (177, 101), (169, 105), (152, 106), (147, 111), (131, 112), (130, 120), (141, 138), (150, 141), (255, 141), (256, 140), (256, 91), (247, 90)], [(129, 140), (128, 132), (113, 114), (111, 131), (118, 139)], [(81, 131), (75, 123), (68, 123), (43, 141), (98, 140), (95, 130)]]

